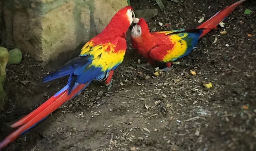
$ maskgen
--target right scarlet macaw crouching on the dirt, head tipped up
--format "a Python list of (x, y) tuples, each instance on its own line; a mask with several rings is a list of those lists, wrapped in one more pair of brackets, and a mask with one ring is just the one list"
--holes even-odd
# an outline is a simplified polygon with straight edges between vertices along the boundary
[(161, 71), (169, 71), (171, 63), (178, 58), (190, 54), (198, 39), (210, 30), (216, 29), (236, 6), (244, 2), (240, 0), (219, 11), (196, 29), (179, 29), (164, 32), (150, 33), (147, 23), (143, 18), (134, 19), (136, 25), (132, 29), (132, 46), (147, 61), (148, 65), (155, 62), (165, 63)]

